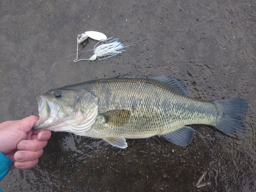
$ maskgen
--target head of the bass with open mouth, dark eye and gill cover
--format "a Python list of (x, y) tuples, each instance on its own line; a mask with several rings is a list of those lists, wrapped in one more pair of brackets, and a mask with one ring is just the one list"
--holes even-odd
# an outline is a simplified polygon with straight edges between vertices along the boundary
[(98, 98), (85, 89), (55, 89), (36, 97), (39, 120), (36, 131), (51, 130), (77, 135), (89, 130), (98, 115)]

